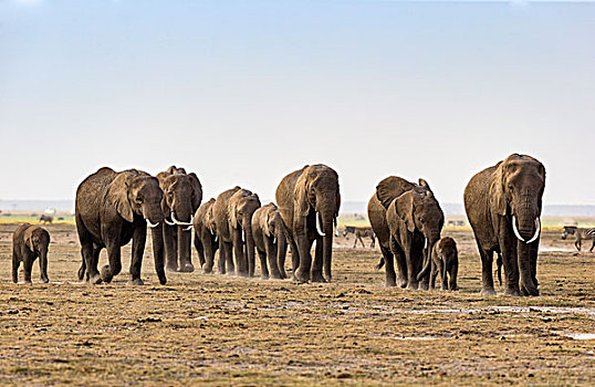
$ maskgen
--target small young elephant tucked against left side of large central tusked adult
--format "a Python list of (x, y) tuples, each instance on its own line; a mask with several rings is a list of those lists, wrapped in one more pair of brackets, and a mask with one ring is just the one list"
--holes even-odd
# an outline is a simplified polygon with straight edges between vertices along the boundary
[[(260, 258), (261, 279), (269, 279), (268, 266), (270, 266), (272, 279), (286, 279), (284, 266), (288, 242), (281, 215), (279, 215), (279, 209), (274, 203), (269, 203), (254, 211), (252, 236)], [(267, 264), (267, 260), (269, 264)]]

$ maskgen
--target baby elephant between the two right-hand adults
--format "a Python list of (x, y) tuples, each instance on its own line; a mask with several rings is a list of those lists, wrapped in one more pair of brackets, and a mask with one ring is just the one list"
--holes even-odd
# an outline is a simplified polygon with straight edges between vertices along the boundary
[[(457, 286), (457, 271), (459, 270), (459, 253), (457, 251), (457, 243), (450, 237), (440, 239), (431, 249), (431, 276), (430, 289), (434, 289), (436, 284), (436, 276), (440, 271), (442, 279), (442, 290), (459, 290)], [(447, 279), (447, 273), (450, 276), (450, 281)]]

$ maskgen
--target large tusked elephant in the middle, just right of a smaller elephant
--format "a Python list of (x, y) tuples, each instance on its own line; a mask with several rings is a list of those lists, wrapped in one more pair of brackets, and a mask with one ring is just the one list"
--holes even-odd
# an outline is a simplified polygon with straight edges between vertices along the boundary
[[(337, 172), (323, 165), (306, 165), (285, 176), (276, 188), (276, 203), (291, 245), (293, 278), (307, 282), (332, 280), (333, 228), (341, 207)], [(322, 223), (322, 226), (321, 226)], [(314, 263), (310, 250), (316, 241)]]

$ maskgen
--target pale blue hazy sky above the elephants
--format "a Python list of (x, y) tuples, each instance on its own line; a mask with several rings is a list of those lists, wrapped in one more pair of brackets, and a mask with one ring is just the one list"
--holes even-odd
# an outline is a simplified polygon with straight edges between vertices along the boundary
[(171, 164), (273, 198), (325, 163), (345, 200), (398, 175), (461, 202), (518, 151), (595, 203), (594, 127), (593, 2), (0, 1), (2, 199)]

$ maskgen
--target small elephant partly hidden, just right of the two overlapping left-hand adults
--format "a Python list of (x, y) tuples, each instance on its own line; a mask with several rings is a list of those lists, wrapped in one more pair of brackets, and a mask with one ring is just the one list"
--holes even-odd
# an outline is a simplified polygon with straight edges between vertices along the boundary
[(215, 205), (215, 198), (202, 203), (195, 213), (194, 228), (195, 228), (195, 248), (198, 252), (198, 259), (200, 266), (205, 274), (212, 273), (212, 266), (215, 264), (215, 252), (219, 247), (217, 239), (217, 231), (215, 226), (215, 216), (212, 207)]

